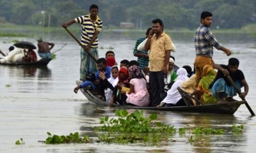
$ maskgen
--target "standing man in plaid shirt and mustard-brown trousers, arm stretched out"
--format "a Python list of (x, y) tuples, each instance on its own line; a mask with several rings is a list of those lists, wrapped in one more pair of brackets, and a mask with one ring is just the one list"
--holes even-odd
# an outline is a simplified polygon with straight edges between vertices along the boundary
[(202, 78), (202, 69), (205, 65), (212, 66), (214, 62), (212, 61), (213, 47), (218, 50), (222, 50), (228, 56), (231, 55), (231, 51), (223, 47), (216, 38), (213, 36), (209, 27), (212, 23), (212, 13), (209, 11), (203, 11), (201, 13), (201, 25), (198, 27), (195, 33), (195, 48), (196, 48), (196, 58), (195, 58), (195, 74), (196, 74), (196, 84)]

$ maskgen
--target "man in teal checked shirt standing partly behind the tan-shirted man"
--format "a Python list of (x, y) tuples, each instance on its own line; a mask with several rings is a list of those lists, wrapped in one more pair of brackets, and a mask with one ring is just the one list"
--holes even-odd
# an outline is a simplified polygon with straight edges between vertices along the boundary
[(137, 61), (139, 62), (140, 69), (143, 69), (148, 66), (148, 50), (139, 51), (137, 50), (137, 47), (138, 45), (140, 45), (140, 43), (142, 43), (145, 39), (148, 38), (148, 34), (151, 29), (152, 29), (151, 27), (147, 29), (146, 37), (140, 38), (136, 41), (136, 44), (133, 50), (133, 55), (138, 57)]

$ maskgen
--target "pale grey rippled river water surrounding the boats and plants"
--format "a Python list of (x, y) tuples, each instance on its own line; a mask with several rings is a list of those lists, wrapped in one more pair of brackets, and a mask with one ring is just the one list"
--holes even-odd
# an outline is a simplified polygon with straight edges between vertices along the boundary
[[(175, 39), (176, 35), (173, 36), (173, 42), (177, 52), (172, 53), (175, 64), (180, 67), (189, 65), (193, 68), (193, 36), (185, 40)], [(244, 40), (243, 37), (234, 38), (232, 34), (219, 38), (225, 47), (232, 49), (234, 54), (230, 57), (237, 57), (240, 61), (239, 69), (244, 72), (250, 87), (246, 100), (256, 113), (256, 49), (251, 48), (255, 47), (255, 38)], [(36, 40), (30, 38), (15, 38), (17, 39), (36, 44)], [(12, 38), (0, 38), (3, 52), (7, 52), (12, 45), (11, 41)], [(79, 80), (80, 48), (76, 41), (71, 38), (47, 41), (56, 44), (52, 52), (65, 43), (68, 45), (56, 52), (56, 59), (53, 59), (46, 68), (0, 65), (0, 152), (255, 152), (256, 118), (250, 116), (245, 105), (241, 105), (234, 115), (157, 112), (158, 120), (175, 128), (189, 125), (225, 128), (230, 131), (233, 125), (243, 125), (244, 131), (240, 135), (194, 135), (195, 142), (188, 143), (188, 138), (192, 134), (180, 136), (178, 133), (171, 138), (174, 142), (170, 141), (160, 146), (39, 143), (38, 141), (45, 141), (47, 132), (54, 135), (79, 132), (81, 136), (86, 134), (97, 137), (92, 133), (92, 128), (99, 126), (99, 117), (115, 117), (115, 110), (92, 105), (80, 91), (77, 94), (73, 92), (76, 87), (75, 81)], [(122, 59), (136, 59), (132, 55), (135, 42), (136, 38), (102, 39), (99, 57), (105, 57), (106, 51), (113, 50), (118, 64)], [(223, 52), (214, 50), (214, 62), (228, 64), (228, 59)], [(235, 99), (239, 97), (236, 96)], [(151, 113), (152, 111), (145, 111), (145, 115)], [(15, 145), (20, 138), (23, 138), (25, 144)]]

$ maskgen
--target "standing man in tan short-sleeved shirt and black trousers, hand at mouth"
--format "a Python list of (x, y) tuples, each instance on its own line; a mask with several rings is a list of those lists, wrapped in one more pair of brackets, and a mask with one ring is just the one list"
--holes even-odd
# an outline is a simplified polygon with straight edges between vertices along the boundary
[(170, 36), (163, 32), (163, 21), (159, 18), (152, 20), (152, 29), (148, 34), (145, 50), (149, 54), (149, 85), (152, 89), (151, 106), (157, 106), (166, 97), (164, 92), (164, 75), (168, 71), (168, 63), (172, 48)]

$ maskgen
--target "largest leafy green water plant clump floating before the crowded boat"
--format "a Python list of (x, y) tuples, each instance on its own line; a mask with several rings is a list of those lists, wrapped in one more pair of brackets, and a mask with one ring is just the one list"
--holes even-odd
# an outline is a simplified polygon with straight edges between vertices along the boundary
[(174, 126), (168, 126), (161, 122), (152, 122), (157, 119), (156, 113), (150, 117), (143, 117), (143, 110), (135, 110), (129, 114), (127, 110), (116, 110), (118, 119), (109, 117), (100, 118), (102, 126), (95, 127), (95, 131), (125, 132), (125, 133), (175, 133)]

